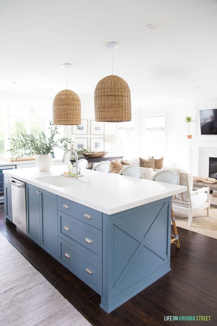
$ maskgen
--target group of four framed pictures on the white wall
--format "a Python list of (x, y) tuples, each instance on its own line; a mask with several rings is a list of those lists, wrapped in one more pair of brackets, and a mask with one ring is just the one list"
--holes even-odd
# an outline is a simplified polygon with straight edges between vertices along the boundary
[(91, 152), (104, 151), (104, 122), (95, 120), (81, 119), (80, 125), (72, 126), (76, 150), (89, 149)]

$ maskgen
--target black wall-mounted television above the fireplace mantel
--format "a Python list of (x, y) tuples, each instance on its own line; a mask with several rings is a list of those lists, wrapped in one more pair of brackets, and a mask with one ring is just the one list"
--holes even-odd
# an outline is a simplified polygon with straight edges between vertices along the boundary
[(200, 110), (201, 135), (217, 135), (217, 109)]

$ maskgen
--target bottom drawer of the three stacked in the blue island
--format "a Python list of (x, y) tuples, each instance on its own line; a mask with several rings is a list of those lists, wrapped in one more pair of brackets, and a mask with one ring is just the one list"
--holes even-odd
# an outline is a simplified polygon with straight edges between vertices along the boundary
[(60, 237), (58, 251), (59, 262), (101, 295), (102, 265)]

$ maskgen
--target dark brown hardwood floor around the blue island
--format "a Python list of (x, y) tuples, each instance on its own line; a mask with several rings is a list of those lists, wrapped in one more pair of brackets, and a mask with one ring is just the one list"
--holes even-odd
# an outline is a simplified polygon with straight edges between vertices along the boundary
[[(4, 223), (4, 205), (0, 232), (92, 325), (217, 325), (217, 239), (178, 228), (181, 248), (171, 246), (170, 273), (108, 315), (99, 307), (97, 293), (12, 223)], [(174, 315), (211, 319), (164, 321), (164, 316)]]

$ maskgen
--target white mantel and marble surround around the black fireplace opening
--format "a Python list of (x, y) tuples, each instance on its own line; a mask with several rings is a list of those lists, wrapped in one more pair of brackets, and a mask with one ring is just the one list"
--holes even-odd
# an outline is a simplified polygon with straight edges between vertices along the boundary
[(209, 157), (217, 157), (216, 140), (188, 141), (188, 171), (203, 178), (209, 176)]

